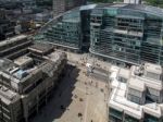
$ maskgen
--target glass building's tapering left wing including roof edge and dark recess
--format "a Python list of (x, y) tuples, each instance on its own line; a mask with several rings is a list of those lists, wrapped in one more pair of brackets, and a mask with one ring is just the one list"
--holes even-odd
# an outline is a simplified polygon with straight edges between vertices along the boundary
[(96, 4), (84, 5), (54, 17), (35, 36), (35, 40), (48, 41), (71, 50), (88, 50), (90, 46), (90, 13)]

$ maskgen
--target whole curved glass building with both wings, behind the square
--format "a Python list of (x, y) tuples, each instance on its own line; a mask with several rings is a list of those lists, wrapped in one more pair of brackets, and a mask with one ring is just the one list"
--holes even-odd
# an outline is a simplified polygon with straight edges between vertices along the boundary
[(45, 41), (77, 50), (87, 47), (90, 53), (116, 64), (163, 64), (162, 9), (145, 4), (90, 4), (54, 20), (43, 30)]

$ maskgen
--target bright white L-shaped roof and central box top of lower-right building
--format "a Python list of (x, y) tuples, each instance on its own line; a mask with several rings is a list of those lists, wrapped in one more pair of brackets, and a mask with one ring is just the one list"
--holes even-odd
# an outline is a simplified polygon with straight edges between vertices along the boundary
[[(112, 66), (111, 69), (115, 69), (115, 66)], [(138, 78), (138, 76), (134, 76), (130, 78), (130, 81), (128, 81), (128, 83), (122, 83), (116, 80), (118, 70), (113, 70), (112, 74), (111, 76), (113, 81), (111, 82), (111, 87), (113, 88), (113, 90), (111, 93), (111, 99), (109, 99), (109, 106), (111, 108), (114, 108), (122, 112), (124, 111), (125, 113), (136, 119), (143, 118), (143, 111), (156, 118), (160, 118), (162, 115), (163, 103), (151, 102), (146, 105), (138, 105), (127, 100), (126, 98), (127, 85), (139, 90), (145, 90), (145, 85), (147, 85), (145, 84), (145, 82), (147, 81), (143, 81), (143, 77)]]

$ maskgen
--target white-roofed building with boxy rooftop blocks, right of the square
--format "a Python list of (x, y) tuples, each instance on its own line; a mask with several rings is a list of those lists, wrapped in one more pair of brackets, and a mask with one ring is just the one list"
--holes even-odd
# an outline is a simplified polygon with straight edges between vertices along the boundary
[(110, 122), (163, 122), (163, 69), (145, 63), (111, 68)]

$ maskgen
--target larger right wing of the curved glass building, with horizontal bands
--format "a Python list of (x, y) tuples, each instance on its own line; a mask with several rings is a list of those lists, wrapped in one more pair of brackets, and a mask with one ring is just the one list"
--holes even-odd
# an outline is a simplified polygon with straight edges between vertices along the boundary
[(162, 9), (113, 4), (96, 8), (90, 20), (91, 53), (131, 64), (163, 64)]

